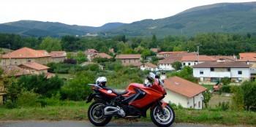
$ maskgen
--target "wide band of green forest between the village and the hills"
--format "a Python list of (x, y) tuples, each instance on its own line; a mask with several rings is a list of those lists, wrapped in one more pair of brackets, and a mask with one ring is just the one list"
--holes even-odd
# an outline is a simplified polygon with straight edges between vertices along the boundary
[(124, 35), (105, 37), (75, 37), (61, 38), (27, 37), (17, 34), (0, 34), (0, 47), (17, 50), (20, 47), (31, 47), (40, 50), (66, 50), (75, 52), (94, 48), (102, 53), (108, 53), (113, 48), (116, 53), (150, 54), (149, 49), (159, 47), (162, 51), (187, 50), (195, 52), (200, 47), (204, 55), (238, 55), (241, 52), (256, 51), (256, 36), (251, 34), (208, 33), (196, 36), (157, 36), (127, 38)]

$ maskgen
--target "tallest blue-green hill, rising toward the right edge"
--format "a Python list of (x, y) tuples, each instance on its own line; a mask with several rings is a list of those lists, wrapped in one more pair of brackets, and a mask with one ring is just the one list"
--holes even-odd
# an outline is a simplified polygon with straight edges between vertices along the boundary
[(130, 23), (109, 31), (109, 34), (192, 36), (203, 32), (247, 33), (255, 31), (256, 2), (249, 2), (194, 7), (172, 17)]

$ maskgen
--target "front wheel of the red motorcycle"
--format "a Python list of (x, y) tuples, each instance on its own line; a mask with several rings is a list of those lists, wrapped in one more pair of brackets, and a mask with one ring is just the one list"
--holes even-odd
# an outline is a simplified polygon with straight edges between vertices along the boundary
[(164, 107), (165, 115), (162, 114), (162, 111), (160, 109), (161, 107), (157, 105), (153, 109), (151, 109), (150, 117), (153, 123), (157, 126), (161, 127), (167, 127), (171, 126), (175, 119), (175, 112), (172, 107), (170, 107), (169, 104), (167, 104), (166, 107)]

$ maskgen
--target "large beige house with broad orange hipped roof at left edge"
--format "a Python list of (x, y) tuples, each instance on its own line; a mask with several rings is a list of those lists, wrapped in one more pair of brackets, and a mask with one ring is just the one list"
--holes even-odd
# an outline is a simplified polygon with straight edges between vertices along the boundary
[(33, 50), (28, 47), (14, 50), (1, 56), (0, 65), (20, 65), (22, 63), (37, 62), (40, 64), (47, 64), (51, 62), (50, 54), (45, 50)]

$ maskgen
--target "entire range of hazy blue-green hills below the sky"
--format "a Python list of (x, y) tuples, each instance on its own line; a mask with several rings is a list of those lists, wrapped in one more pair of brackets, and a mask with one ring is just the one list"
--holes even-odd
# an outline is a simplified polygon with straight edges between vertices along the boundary
[(0, 24), (0, 32), (25, 36), (63, 36), (98, 34), (114, 36), (158, 37), (168, 35), (193, 36), (205, 32), (255, 33), (256, 2), (221, 3), (194, 7), (168, 18), (140, 20), (134, 23), (107, 23), (104, 26), (77, 26), (64, 23), (20, 20)]

